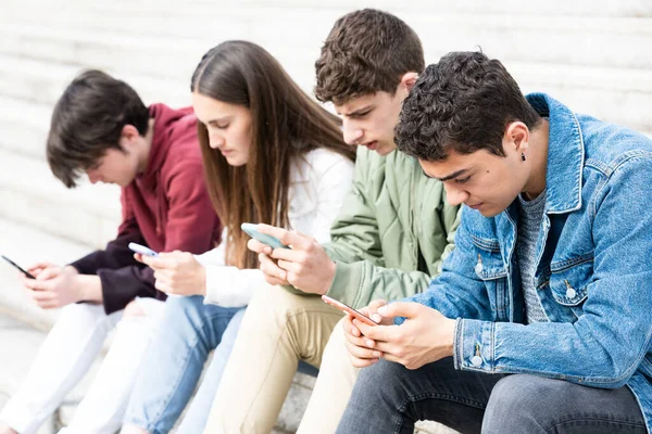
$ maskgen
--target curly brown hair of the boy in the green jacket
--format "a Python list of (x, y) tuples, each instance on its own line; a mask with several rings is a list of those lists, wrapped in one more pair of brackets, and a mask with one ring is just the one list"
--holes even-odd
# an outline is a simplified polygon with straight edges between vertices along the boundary
[(418, 36), (387, 12), (363, 9), (339, 18), (315, 62), (315, 95), (342, 104), (386, 91), (392, 95), (405, 73), (425, 67)]

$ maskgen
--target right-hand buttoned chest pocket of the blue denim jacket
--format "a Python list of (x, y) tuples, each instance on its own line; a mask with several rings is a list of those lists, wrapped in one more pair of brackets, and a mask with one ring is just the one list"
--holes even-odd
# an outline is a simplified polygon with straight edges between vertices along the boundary
[(577, 307), (587, 298), (588, 286), (593, 278), (593, 255), (553, 263), (550, 271), (550, 291), (556, 303)]

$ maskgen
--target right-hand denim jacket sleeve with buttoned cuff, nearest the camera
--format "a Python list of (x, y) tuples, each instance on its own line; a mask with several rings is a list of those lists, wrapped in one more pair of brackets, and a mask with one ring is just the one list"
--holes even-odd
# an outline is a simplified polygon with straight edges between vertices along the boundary
[(617, 388), (652, 337), (652, 156), (635, 153), (607, 171), (585, 213), (592, 220), (593, 278), (575, 322), (528, 326), (463, 319), (455, 367), (534, 373)]

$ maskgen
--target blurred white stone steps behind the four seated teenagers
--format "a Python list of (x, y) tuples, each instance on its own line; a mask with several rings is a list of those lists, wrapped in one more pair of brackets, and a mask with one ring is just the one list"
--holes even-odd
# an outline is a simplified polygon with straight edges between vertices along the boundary
[[(247, 39), (312, 95), (314, 62), (334, 22), (366, 7), (412, 26), (427, 63), (479, 47), (524, 92), (548, 92), (652, 137), (652, 0), (1, 0), (0, 253), (25, 267), (65, 264), (115, 235), (118, 188), (68, 191), (45, 159), (51, 110), (80, 69), (126, 80), (148, 104), (189, 105), (190, 76), (203, 53)], [(17, 272), (0, 264), (0, 407), (55, 316), (30, 306)]]

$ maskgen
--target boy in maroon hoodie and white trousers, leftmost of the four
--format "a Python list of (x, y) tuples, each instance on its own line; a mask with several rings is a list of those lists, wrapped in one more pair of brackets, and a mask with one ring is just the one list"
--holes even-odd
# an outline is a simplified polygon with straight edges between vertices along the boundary
[(36, 432), (116, 324), (111, 350), (64, 431), (120, 429), (165, 299), (152, 269), (136, 261), (127, 245), (200, 254), (220, 241), (196, 124), (191, 108), (147, 107), (127, 84), (99, 71), (80, 74), (57, 103), (47, 143), (52, 173), (68, 188), (84, 173), (92, 183), (121, 186), (123, 221), (104, 250), (65, 267), (39, 263), (29, 269), (36, 279), (23, 282), (35, 303), (63, 309), (22, 388), (0, 413), (8, 423), (0, 433)]

